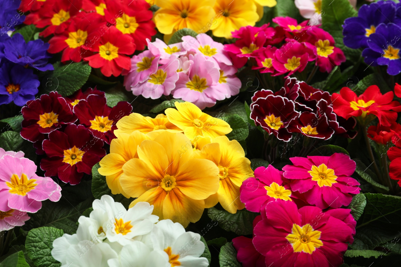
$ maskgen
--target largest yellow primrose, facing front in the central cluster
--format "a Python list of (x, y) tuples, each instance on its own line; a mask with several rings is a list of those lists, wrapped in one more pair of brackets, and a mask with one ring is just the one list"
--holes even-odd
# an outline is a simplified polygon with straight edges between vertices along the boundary
[(120, 184), (130, 197), (130, 207), (146, 201), (153, 214), (186, 227), (197, 222), (207, 197), (219, 188), (219, 169), (203, 158), (194, 158), (190, 140), (181, 133), (162, 131), (153, 141), (144, 140), (138, 158), (123, 166)]

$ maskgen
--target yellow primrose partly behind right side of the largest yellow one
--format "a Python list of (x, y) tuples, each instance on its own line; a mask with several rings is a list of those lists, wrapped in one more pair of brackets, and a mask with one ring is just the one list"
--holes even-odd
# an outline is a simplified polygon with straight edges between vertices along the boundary
[(253, 177), (251, 161), (245, 158), (245, 152), (237, 140), (227, 136), (219, 136), (213, 143), (203, 146), (195, 152), (198, 157), (213, 161), (219, 167), (219, 190), (216, 194), (205, 199), (205, 207), (213, 207), (220, 202), (221, 206), (230, 213), (243, 209), (245, 205), (239, 199), (239, 187), (249, 177)]

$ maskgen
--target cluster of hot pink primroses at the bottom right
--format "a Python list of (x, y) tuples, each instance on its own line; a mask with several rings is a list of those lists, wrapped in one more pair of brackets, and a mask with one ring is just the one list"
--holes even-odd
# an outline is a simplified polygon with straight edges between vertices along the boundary
[(290, 160), (283, 171), (257, 168), (241, 185), (241, 202), (261, 215), (253, 238), (233, 239), (237, 259), (244, 267), (339, 266), (355, 234), (351, 210), (342, 207), (360, 191), (350, 177), (356, 164), (342, 153)]

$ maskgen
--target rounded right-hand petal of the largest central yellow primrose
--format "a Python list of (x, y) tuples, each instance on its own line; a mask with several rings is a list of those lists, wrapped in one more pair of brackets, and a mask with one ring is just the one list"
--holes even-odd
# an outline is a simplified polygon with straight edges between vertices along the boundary
[(180, 166), (177, 187), (192, 199), (205, 199), (219, 189), (219, 168), (210, 160), (193, 158)]

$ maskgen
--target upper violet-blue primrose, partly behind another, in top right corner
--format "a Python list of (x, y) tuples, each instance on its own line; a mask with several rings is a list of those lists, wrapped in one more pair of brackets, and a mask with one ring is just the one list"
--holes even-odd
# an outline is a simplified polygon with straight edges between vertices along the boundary
[(368, 47), (367, 41), (371, 34), (376, 32), (376, 27), (381, 23), (397, 21), (396, 13), (397, 5), (393, 1), (364, 4), (359, 8), (357, 17), (344, 20), (344, 45), (354, 49)]

